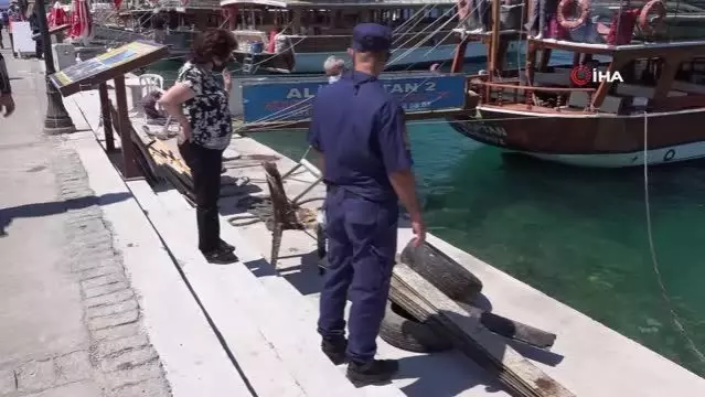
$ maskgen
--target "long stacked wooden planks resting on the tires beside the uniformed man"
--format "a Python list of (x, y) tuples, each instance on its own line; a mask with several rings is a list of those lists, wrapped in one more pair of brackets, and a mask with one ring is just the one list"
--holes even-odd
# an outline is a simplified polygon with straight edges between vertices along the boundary
[(394, 268), (391, 298), (417, 319), (434, 324), (458, 348), (494, 373), (515, 394), (532, 397), (574, 396), (484, 328), (479, 313), (469, 313), (404, 264)]

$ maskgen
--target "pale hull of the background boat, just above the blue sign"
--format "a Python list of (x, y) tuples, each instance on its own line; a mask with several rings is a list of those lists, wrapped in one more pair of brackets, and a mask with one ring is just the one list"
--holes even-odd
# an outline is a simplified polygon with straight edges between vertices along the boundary
[[(510, 52), (516, 51), (516, 42), (510, 43)], [(423, 46), (415, 50), (398, 50), (392, 55), (392, 63), (388, 67), (410, 67), (415, 64), (446, 63), (452, 62), (456, 53), (456, 44), (445, 44), (432, 46)], [(408, 51), (408, 52), (407, 52)], [(295, 53), (296, 65), (293, 73), (323, 73), (323, 63), (331, 56), (338, 56), (343, 60), (349, 58), (346, 52), (331, 53)], [(466, 50), (466, 58), (477, 58), (487, 56), (487, 45), (481, 43), (470, 43)]]

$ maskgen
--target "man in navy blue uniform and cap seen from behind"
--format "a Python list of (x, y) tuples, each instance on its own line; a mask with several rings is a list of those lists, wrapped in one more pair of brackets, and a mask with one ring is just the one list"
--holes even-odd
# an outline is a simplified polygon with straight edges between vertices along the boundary
[(377, 79), (391, 44), (388, 28), (355, 26), (353, 71), (318, 93), (308, 136), (323, 157), (328, 189), (329, 270), (318, 331), (323, 352), (335, 364), (348, 361), (355, 384), (384, 383), (398, 371), (396, 361), (374, 360), (396, 254), (398, 201), (410, 215), (416, 243), (425, 238), (404, 110)]

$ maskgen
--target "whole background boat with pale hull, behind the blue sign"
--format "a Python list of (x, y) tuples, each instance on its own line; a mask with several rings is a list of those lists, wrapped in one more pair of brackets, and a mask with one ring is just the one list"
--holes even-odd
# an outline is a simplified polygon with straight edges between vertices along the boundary
[[(236, 60), (289, 73), (322, 73), (329, 56), (349, 58), (352, 29), (365, 21), (402, 25), (391, 69), (450, 63), (458, 42), (451, 32), (456, 0), (222, 0), (221, 6), (239, 43)], [(277, 37), (282, 45), (275, 45), (277, 26), (284, 29)], [(466, 51), (469, 58), (485, 55), (480, 44)]]

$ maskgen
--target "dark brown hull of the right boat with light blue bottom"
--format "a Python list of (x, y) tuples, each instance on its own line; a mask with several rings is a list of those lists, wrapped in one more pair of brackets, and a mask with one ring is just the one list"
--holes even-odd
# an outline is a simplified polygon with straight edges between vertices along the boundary
[(481, 118), (449, 119), (476, 141), (544, 160), (626, 168), (705, 158), (705, 109), (643, 115), (536, 114), (478, 107)]

